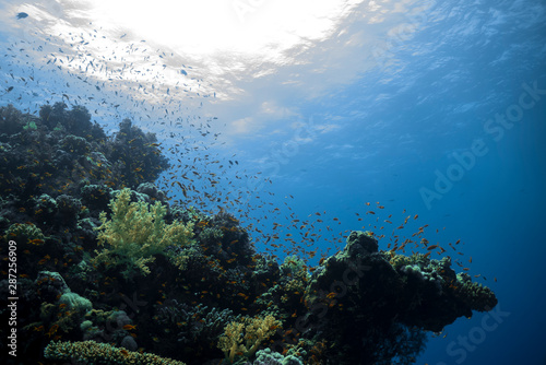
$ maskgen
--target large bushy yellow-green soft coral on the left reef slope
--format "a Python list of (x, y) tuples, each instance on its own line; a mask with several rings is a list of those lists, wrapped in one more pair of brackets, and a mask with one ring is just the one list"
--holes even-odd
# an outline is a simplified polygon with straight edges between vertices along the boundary
[(111, 219), (105, 212), (100, 213), (103, 223), (96, 229), (98, 245), (108, 244), (93, 259), (93, 263), (127, 264), (123, 272), (130, 276), (134, 269), (143, 274), (150, 273), (149, 262), (154, 255), (167, 255), (165, 250), (170, 245), (188, 245), (193, 235), (193, 224), (185, 225), (179, 221), (165, 223), (166, 208), (158, 201), (153, 205), (145, 202), (130, 202), (131, 190), (122, 189), (116, 199), (110, 200)]

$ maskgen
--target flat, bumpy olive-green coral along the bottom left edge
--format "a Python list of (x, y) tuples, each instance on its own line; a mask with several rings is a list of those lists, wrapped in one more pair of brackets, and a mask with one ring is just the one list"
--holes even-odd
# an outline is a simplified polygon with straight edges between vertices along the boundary
[(49, 360), (74, 360), (76, 362), (99, 364), (151, 364), (186, 365), (182, 362), (159, 357), (150, 353), (139, 353), (118, 349), (95, 341), (70, 342), (51, 341), (44, 355)]

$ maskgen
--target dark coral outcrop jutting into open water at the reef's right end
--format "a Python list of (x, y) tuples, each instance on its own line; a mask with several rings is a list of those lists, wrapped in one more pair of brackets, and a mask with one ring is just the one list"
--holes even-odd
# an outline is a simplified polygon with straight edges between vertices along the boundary
[[(441, 331), (460, 316), (496, 305), (490, 290), (460, 291), (453, 278), (449, 260), (394, 259), (378, 251), (372, 236), (353, 232), (344, 250), (313, 273), (306, 290), (309, 313), (300, 326), (307, 337), (344, 349), (329, 355), (337, 364), (396, 356), (411, 362), (424, 348), (424, 331)], [(413, 346), (393, 341), (404, 338)]]

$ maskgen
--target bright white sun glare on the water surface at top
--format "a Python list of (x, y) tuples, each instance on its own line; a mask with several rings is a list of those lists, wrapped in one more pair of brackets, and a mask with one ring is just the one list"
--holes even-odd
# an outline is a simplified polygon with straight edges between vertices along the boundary
[(186, 54), (258, 54), (325, 38), (351, 10), (346, 1), (94, 0), (98, 22)]

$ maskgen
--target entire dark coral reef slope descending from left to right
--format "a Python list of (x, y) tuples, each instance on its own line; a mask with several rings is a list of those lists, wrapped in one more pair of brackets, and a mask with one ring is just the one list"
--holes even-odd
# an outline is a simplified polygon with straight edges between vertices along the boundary
[(316, 267), (280, 264), (226, 211), (169, 203), (155, 136), (119, 127), (61, 103), (0, 108), (0, 254), (16, 243), (25, 362), (411, 364), (428, 331), (497, 304), (448, 257), (382, 251), (368, 232)]

